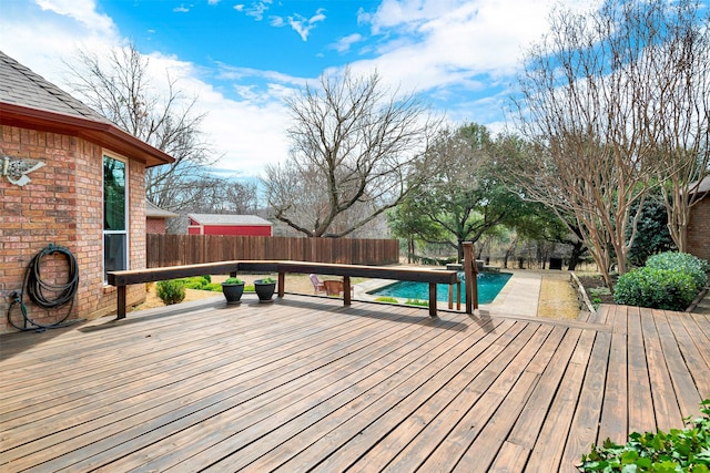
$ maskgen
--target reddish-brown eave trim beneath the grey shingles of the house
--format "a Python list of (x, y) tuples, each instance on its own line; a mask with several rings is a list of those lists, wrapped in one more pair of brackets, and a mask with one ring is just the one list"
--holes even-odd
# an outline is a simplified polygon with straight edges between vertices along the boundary
[(32, 109), (0, 102), (0, 124), (77, 136), (101, 145), (133, 160), (145, 167), (173, 163), (169, 154), (124, 132), (110, 122), (64, 115), (47, 110)]

